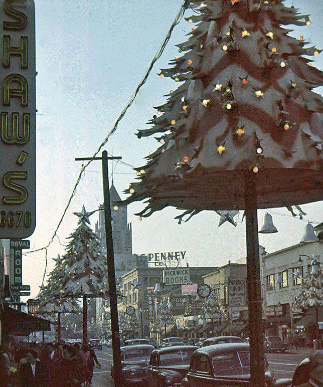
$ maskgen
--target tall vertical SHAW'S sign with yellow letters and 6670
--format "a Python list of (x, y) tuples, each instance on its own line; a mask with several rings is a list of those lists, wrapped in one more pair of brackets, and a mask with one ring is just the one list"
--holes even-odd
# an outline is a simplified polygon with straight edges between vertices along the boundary
[(0, 0), (0, 238), (36, 226), (36, 68), (33, 0)]

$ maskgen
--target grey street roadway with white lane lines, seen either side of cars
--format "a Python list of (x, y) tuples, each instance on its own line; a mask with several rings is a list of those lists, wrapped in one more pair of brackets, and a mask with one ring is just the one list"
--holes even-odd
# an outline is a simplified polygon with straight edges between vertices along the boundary
[[(110, 376), (112, 364), (111, 347), (103, 347), (102, 351), (95, 351), (101, 369), (94, 368), (93, 387), (113, 387), (113, 380)], [(296, 366), (307, 357), (306, 352), (296, 353), (266, 353), (270, 368), (275, 372), (276, 378), (292, 377)]]

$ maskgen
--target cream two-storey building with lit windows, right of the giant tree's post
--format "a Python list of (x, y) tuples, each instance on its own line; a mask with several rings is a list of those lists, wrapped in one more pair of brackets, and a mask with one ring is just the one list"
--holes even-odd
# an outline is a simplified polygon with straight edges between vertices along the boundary
[[(321, 232), (320, 228), (315, 231), (317, 235)], [(312, 254), (323, 256), (322, 239), (316, 243), (299, 243), (262, 256), (261, 282), (267, 334), (285, 339), (288, 331), (296, 331), (303, 345), (310, 344), (315, 338), (315, 312), (304, 312), (293, 307), (304, 276), (310, 270)], [(295, 271), (299, 273), (297, 277), (293, 275)], [(322, 325), (323, 307), (318, 309), (318, 318)]]

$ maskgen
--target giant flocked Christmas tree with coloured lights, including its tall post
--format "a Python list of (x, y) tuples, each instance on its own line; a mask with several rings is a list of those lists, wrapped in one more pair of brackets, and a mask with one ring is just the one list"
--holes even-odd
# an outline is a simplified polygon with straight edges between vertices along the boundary
[(322, 76), (304, 57), (320, 50), (288, 36), (284, 26), (310, 20), (282, 0), (190, 6), (196, 25), (159, 74), (179, 87), (137, 134), (160, 146), (135, 168), (123, 205), (146, 201), (139, 220), (173, 206), (184, 211), (179, 223), (245, 210), (251, 382), (264, 387), (257, 209), (323, 198), (322, 104), (312, 91)]

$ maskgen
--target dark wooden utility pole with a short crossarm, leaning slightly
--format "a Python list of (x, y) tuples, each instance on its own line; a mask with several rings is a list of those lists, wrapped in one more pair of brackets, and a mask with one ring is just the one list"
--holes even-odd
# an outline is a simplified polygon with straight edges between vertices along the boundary
[(109, 171), (108, 171), (108, 160), (120, 160), (121, 156), (108, 157), (107, 151), (104, 150), (102, 152), (102, 157), (75, 158), (76, 161), (92, 160), (92, 159), (102, 161), (105, 240), (106, 240), (107, 264), (108, 264), (108, 283), (109, 283), (109, 299), (110, 299), (110, 312), (111, 312), (111, 339), (112, 339), (112, 354), (113, 354), (113, 369), (114, 369), (113, 381), (114, 381), (114, 387), (123, 387), (122, 378), (121, 378), (120, 332), (119, 332), (119, 321), (118, 321), (117, 289), (116, 289), (115, 269), (114, 269), (112, 217), (111, 217), (111, 207), (110, 207)]

